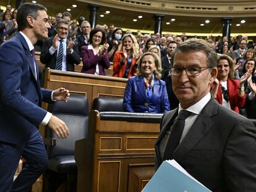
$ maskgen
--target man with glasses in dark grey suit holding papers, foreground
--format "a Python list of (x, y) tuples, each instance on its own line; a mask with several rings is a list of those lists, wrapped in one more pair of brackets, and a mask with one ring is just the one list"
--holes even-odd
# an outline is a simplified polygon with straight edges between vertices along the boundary
[[(164, 160), (175, 159), (211, 191), (254, 192), (256, 129), (210, 95), (217, 75), (215, 50), (193, 38), (179, 44), (172, 59), (173, 91), (180, 104), (161, 120), (156, 169)], [(180, 114), (186, 113), (182, 120)]]

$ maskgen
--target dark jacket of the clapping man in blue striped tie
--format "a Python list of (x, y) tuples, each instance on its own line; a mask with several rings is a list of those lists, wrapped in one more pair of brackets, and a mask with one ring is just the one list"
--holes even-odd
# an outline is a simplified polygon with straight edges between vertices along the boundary
[[(53, 46), (53, 39), (54, 36), (51, 38), (48, 38), (45, 40), (45, 43), (43, 44), (43, 48), (41, 49), (41, 54), (40, 54), (40, 61), (45, 64), (45, 68), (50, 68), (50, 69), (55, 69), (56, 66), (56, 59), (57, 59), (57, 54), (58, 52), (55, 51), (53, 55), (49, 53), (49, 48)], [(67, 39), (67, 44), (69, 43), (69, 40)], [(75, 67), (74, 64), (80, 64), (81, 59), (79, 56), (79, 51), (78, 51), (78, 45), (77, 43), (74, 44), (73, 47), (74, 51), (72, 54), (70, 54), (67, 51), (66, 59), (67, 59), (67, 71), (69, 72), (74, 72)]]

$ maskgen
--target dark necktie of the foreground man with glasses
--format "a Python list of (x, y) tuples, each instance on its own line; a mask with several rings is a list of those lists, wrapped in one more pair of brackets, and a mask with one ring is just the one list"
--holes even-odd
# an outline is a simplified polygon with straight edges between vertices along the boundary
[(179, 112), (177, 119), (173, 123), (168, 143), (166, 144), (166, 148), (163, 154), (163, 161), (173, 156), (173, 152), (181, 140), (181, 135), (185, 126), (185, 119), (187, 119), (190, 114), (191, 112), (184, 109)]

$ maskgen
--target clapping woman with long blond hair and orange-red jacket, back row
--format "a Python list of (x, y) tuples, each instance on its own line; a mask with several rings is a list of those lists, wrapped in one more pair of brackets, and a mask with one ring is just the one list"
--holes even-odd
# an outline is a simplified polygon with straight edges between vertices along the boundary
[(137, 72), (141, 51), (134, 35), (126, 34), (122, 37), (118, 51), (113, 59), (113, 77), (129, 78)]

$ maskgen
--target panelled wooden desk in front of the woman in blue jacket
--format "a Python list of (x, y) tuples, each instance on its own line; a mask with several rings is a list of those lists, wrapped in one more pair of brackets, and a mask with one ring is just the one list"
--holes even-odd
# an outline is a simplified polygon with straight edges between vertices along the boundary
[(141, 191), (155, 173), (159, 126), (100, 120), (99, 112), (92, 111), (88, 138), (75, 144), (77, 192)]

